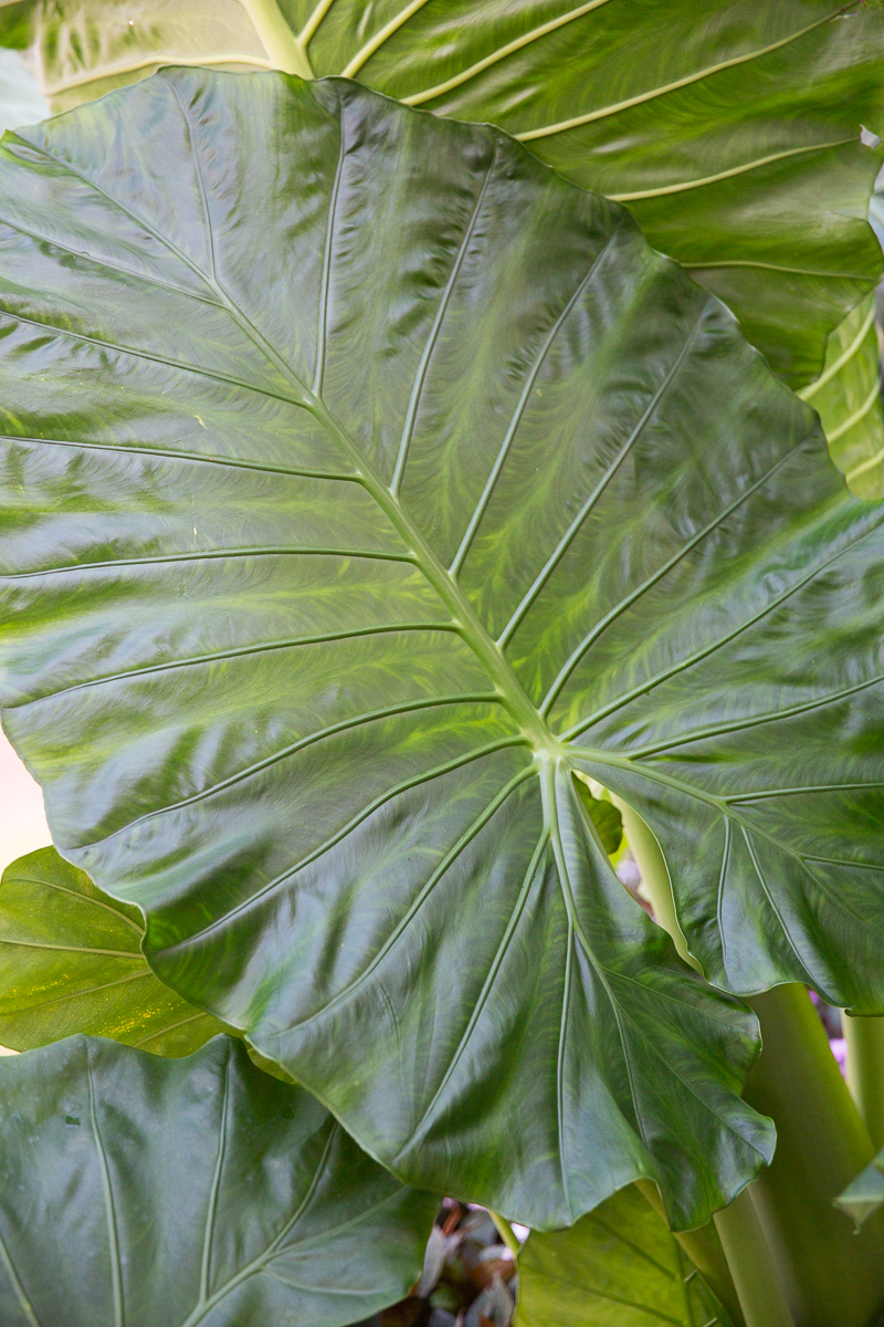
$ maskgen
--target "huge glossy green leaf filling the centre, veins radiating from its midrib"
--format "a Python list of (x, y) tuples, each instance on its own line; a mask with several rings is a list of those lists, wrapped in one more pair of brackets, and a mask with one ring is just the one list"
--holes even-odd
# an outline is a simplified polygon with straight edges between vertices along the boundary
[(884, 510), (616, 204), (346, 81), (7, 139), (4, 723), (158, 975), (417, 1188), (702, 1222), (716, 982), (877, 1009)]

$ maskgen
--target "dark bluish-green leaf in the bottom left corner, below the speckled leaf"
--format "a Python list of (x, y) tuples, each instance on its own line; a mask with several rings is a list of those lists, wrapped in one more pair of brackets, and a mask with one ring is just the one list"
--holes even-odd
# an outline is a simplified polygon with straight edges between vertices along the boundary
[(0, 1062), (4, 1327), (339, 1327), (402, 1298), (435, 1208), (232, 1038)]

